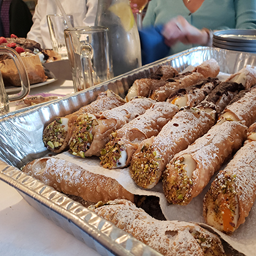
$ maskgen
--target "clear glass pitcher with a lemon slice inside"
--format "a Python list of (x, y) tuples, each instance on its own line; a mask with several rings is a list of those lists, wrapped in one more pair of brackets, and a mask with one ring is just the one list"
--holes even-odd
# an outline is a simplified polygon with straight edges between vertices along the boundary
[(109, 30), (115, 77), (141, 67), (140, 37), (129, 0), (99, 0), (95, 25)]

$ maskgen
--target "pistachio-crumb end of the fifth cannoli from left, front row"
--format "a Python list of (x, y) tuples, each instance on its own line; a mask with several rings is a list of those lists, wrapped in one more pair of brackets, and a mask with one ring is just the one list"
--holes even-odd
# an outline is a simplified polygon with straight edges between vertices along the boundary
[(186, 205), (190, 198), (190, 189), (193, 185), (192, 179), (187, 175), (185, 164), (183, 164), (184, 157), (173, 162), (175, 171), (173, 171), (165, 181), (165, 189), (168, 190), (167, 201), (177, 205)]

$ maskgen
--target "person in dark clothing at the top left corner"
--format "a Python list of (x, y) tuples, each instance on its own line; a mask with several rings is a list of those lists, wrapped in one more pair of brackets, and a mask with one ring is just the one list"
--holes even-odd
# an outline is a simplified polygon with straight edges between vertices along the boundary
[(0, 36), (27, 36), (32, 22), (31, 12), (22, 0), (0, 0)]

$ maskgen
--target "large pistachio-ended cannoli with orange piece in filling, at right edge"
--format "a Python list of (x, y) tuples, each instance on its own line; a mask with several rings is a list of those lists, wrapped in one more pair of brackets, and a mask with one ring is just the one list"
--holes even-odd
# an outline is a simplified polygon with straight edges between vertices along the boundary
[(244, 146), (220, 170), (203, 200), (206, 223), (233, 233), (249, 215), (256, 198), (256, 123), (249, 127)]

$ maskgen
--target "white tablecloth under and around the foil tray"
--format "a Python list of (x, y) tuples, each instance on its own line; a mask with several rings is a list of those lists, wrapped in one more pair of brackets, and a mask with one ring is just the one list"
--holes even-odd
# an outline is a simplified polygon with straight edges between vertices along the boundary
[[(58, 80), (31, 89), (29, 95), (41, 92), (70, 94), (73, 82)], [(16, 189), (3, 181), (0, 181), (0, 255), (99, 256), (96, 250), (42, 216), (28, 205)]]

